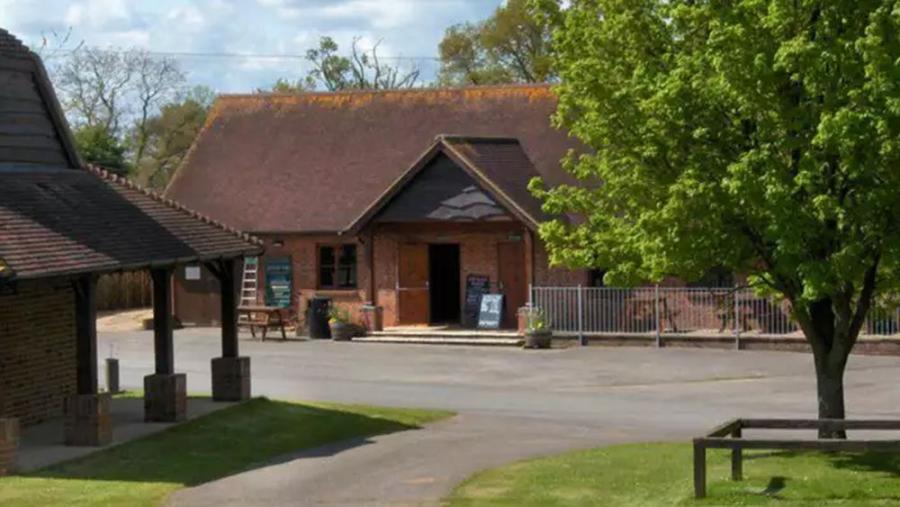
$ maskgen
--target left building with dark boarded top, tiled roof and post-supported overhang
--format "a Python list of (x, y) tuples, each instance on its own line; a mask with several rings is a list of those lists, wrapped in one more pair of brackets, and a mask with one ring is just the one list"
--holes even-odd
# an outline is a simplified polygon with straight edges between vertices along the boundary
[(155, 371), (147, 420), (184, 416), (175, 372), (172, 272), (203, 263), (218, 274), (223, 326), (213, 360), (219, 399), (249, 396), (238, 357), (236, 266), (260, 245), (106, 171), (85, 166), (40, 59), (0, 29), (0, 474), (19, 425), (65, 415), (72, 445), (109, 442), (109, 395), (97, 386), (96, 280), (149, 270)]

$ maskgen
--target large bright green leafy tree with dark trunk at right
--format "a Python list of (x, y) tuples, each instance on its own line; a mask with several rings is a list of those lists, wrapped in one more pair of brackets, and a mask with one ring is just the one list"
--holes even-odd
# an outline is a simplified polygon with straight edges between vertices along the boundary
[(819, 417), (843, 418), (848, 354), (898, 285), (898, 62), (897, 0), (573, 0), (555, 121), (590, 150), (566, 162), (581, 184), (532, 185), (584, 218), (542, 226), (552, 260), (751, 275), (811, 345)]

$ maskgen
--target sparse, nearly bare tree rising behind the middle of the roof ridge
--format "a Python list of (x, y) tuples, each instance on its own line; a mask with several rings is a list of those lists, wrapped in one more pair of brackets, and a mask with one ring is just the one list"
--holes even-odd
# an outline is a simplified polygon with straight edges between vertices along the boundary
[[(357, 37), (353, 39), (350, 54), (343, 56), (339, 53), (334, 39), (322, 37), (318, 48), (306, 52), (306, 59), (313, 68), (300, 83), (304, 86), (320, 85), (328, 91), (387, 90), (416, 86), (419, 69), (413, 67), (404, 70), (380, 60), (378, 57), (380, 44), (381, 41), (378, 41), (370, 51), (365, 51), (359, 47)], [(294, 85), (296, 89), (301, 88), (300, 83)]]

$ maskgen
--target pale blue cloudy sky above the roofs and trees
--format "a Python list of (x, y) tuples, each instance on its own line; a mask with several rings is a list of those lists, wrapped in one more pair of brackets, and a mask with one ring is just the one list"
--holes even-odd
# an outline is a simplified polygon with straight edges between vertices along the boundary
[[(484, 19), (501, 2), (0, 0), (0, 27), (32, 48), (53, 33), (70, 34), (66, 48), (142, 48), (177, 59), (191, 85), (241, 93), (267, 88), (278, 78), (305, 75), (303, 55), (323, 35), (342, 49), (354, 37), (360, 37), (363, 48), (380, 40), (380, 57), (404, 67), (416, 65), (430, 80), (438, 68), (434, 58), (444, 30)], [(59, 39), (51, 35), (50, 40)], [(49, 66), (54, 54), (47, 53)]]

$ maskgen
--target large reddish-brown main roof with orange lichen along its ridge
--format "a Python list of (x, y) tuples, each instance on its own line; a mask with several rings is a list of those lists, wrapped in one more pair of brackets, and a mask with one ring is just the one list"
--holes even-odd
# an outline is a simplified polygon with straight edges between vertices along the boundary
[[(166, 195), (246, 231), (339, 232), (440, 134), (515, 138), (536, 174), (569, 182), (559, 161), (579, 145), (555, 108), (547, 85), (223, 96)], [(509, 184), (489, 149), (469, 156), (524, 202), (527, 179)]]

